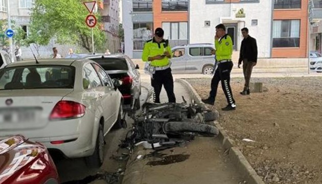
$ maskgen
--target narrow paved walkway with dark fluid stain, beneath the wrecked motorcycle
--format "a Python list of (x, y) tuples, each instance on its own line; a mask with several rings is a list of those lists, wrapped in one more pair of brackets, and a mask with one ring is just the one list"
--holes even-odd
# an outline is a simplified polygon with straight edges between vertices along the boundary
[[(182, 102), (181, 96), (188, 103), (191, 101), (188, 90), (180, 83), (174, 83), (174, 93), (178, 103)], [(168, 101), (164, 88), (160, 100), (162, 103)], [(224, 154), (225, 150), (218, 138), (196, 137), (184, 147), (158, 151), (153, 156), (151, 152), (153, 150), (145, 150), (143, 147), (135, 149), (127, 164), (123, 184), (236, 184), (243, 181), (236, 167)], [(157, 162), (166, 156), (169, 160)]]

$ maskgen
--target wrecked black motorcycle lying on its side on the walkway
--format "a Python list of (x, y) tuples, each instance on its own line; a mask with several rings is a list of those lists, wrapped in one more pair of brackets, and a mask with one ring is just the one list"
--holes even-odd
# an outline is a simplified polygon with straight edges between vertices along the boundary
[(208, 124), (218, 118), (217, 113), (194, 102), (188, 105), (185, 99), (183, 101), (143, 104), (142, 113), (134, 118), (133, 128), (119, 146), (132, 150), (142, 145), (146, 149), (162, 150), (184, 146), (195, 135), (218, 135), (218, 129)]

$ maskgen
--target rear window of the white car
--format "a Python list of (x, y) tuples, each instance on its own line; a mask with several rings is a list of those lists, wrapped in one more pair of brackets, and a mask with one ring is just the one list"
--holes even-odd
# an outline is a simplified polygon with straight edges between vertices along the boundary
[(74, 88), (73, 66), (19, 66), (0, 70), (0, 90)]

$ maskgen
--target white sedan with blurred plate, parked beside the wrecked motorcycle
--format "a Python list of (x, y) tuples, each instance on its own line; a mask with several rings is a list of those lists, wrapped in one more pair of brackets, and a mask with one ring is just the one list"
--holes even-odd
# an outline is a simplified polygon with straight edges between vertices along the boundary
[(118, 85), (88, 59), (11, 63), (0, 70), (0, 137), (22, 134), (98, 167), (104, 136), (124, 123)]

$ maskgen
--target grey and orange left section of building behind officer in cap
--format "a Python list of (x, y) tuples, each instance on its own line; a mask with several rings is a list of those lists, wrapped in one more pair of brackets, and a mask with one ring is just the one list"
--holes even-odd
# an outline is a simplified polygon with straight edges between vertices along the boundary
[(123, 2), (125, 54), (141, 58), (144, 43), (162, 27), (170, 45), (188, 43), (188, 0), (129, 0)]

